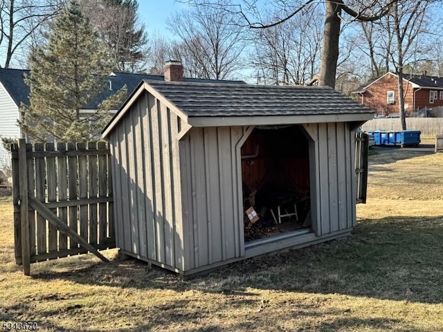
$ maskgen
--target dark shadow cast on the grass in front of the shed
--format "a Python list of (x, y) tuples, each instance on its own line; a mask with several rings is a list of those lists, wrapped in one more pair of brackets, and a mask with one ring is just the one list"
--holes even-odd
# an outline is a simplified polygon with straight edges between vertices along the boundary
[(118, 288), (253, 295), (246, 288), (443, 302), (443, 216), (359, 221), (349, 239), (246, 259), (190, 279), (136, 259), (86, 264), (38, 279)]

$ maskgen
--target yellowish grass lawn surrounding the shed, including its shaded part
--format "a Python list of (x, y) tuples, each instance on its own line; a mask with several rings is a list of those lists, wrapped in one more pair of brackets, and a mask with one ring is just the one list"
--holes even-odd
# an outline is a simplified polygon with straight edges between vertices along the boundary
[(183, 280), (116, 251), (16, 266), (0, 199), (0, 324), (38, 331), (443, 331), (443, 154), (370, 156), (349, 239)]

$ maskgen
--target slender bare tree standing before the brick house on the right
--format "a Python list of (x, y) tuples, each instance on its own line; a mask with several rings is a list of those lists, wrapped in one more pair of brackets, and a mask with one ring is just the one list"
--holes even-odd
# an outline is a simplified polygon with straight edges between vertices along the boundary
[[(392, 69), (397, 74), (397, 92), (401, 127), (406, 129), (403, 77), (405, 73), (417, 73), (429, 66), (430, 39), (437, 44), (436, 36), (428, 38), (431, 19), (428, 15), (436, 1), (403, 0), (392, 3), (388, 15), (377, 22), (361, 24), (365, 43), (360, 49), (370, 58), (373, 76), (380, 76)], [(433, 8), (432, 12), (441, 8)], [(435, 22), (433, 22), (435, 29)], [(426, 37), (428, 35), (428, 37)], [(437, 59), (437, 57), (435, 57)], [(420, 72), (421, 75), (421, 72)]]

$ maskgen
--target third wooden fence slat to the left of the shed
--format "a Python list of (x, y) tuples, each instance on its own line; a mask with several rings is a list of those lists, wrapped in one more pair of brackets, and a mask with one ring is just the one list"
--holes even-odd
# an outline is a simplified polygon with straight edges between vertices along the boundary
[[(86, 150), (85, 143), (77, 143), (78, 151)], [(78, 157), (78, 185), (80, 199), (88, 198), (88, 164), (86, 156)], [(87, 200), (86, 200), (87, 201)], [(80, 236), (88, 241), (88, 203), (80, 205)]]

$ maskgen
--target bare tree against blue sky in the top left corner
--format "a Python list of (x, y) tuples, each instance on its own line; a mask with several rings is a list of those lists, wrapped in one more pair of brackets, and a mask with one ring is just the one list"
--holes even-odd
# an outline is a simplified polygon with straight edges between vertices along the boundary
[[(0, 0), (0, 50), (3, 68), (9, 68), (13, 58), (22, 51), (23, 62), (33, 42), (40, 40), (41, 28), (57, 14), (63, 0)], [(34, 45), (35, 46), (35, 45)]]

